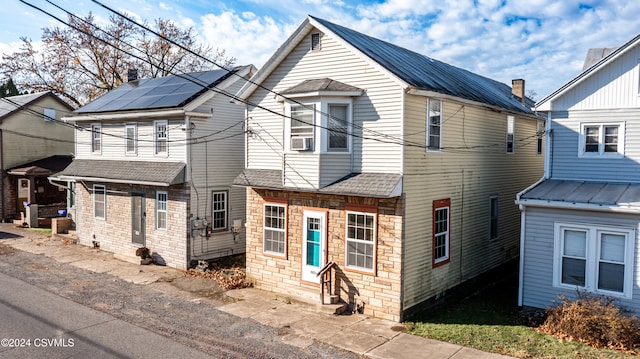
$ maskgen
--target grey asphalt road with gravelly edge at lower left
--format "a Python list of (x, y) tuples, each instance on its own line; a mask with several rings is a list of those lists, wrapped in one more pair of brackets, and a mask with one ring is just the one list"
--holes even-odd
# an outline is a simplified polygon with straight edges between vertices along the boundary
[(0, 339), (31, 346), (0, 347), (0, 358), (358, 358), (320, 342), (289, 345), (286, 327), (217, 310), (218, 300), (173, 283), (133, 284), (15, 250), (1, 234)]

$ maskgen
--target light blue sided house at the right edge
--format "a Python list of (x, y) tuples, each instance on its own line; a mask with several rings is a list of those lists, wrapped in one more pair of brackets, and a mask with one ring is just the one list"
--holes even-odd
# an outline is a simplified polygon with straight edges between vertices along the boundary
[(639, 58), (637, 35), (536, 104), (548, 157), (516, 200), (520, 305), (586, 291), (640, 312)]

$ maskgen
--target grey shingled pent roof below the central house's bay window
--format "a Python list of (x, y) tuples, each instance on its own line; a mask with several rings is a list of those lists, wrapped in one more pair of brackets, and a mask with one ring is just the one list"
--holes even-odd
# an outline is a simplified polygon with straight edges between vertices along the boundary
[(322, 194), (390, 198), (394, 196), (394, 190), (401, 180), (402, 175), (395, 173), (352, 173), (319, 190), (313, 190), (283, 186), (282, 171), (280, 170), (245, 169), (235, 178), (233, 185)]

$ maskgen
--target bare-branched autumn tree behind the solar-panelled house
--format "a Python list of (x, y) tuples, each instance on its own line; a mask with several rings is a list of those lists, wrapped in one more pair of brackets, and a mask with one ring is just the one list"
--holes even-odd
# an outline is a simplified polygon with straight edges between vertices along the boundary
[(73, 106), (82, 106), (125, 82), (131, 68), (140, 77), (161, 77), (216, 68), (205, 59), (225, 67), (235, 62), (224, 51), (213, 54), (211, 47), (197, 43), (192, 28), (181, 29), (170, 20), (158, 19), (152, 29), (205, 59), (120, 16), (112, 15), (103, 29), (92, 14), (70, 15), (68, 24), (44, 28), (42, 50), (21, 38), (17, 52), (2, 56), (3, 73), (12, 74), (23, 88), (53, 91)]

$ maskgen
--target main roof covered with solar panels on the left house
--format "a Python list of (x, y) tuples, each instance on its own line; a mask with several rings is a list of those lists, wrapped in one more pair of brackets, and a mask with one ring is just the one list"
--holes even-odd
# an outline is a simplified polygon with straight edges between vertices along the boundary
[(183, 107), (233, 72), (204, 71), (127, 82), (80, 107), (75, 113)]

